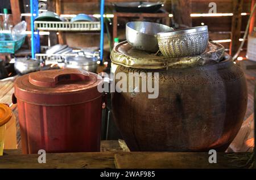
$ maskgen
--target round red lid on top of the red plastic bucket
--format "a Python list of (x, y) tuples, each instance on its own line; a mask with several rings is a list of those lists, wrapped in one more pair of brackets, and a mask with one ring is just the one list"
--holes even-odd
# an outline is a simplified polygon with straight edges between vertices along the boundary
[(102, 96), (101, 76), (76, 68), (37, 71), (20, 76), (14, 84), (16, 98), (39, 105), (70, 105)]

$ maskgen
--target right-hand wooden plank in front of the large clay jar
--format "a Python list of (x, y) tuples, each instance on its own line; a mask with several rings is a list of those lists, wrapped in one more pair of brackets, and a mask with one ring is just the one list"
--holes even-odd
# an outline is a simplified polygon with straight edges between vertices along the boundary
[[(115, 167), (124, 169), (215, 169), (249, 168), (251, 153), (217, 153), (217, 163), (209, 163), (204, 152), (126, 152), (115, 154)], [(245, 166), (246, 165), (246, 166)]]

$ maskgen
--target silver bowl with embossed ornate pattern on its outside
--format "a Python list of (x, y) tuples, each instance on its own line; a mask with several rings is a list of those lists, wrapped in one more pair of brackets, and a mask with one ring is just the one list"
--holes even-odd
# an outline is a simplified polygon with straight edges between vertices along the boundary
[(165, 57), (199, 55), (208, 45), (207, 25), (158, 33), (159, 49)]

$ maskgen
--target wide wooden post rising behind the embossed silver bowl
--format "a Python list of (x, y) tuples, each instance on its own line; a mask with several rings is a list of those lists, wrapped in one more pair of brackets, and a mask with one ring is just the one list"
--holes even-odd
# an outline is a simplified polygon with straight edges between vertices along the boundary
[(191, 7), (191, 0), (172, 0), (174, 22), (180, 27), (192, 27)]

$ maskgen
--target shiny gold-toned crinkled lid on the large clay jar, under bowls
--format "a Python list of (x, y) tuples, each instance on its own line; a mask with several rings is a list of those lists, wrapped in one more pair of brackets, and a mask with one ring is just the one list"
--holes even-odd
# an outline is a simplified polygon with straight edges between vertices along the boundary
[(110, 59), (117, 65), (133, 68), (184, 68), (220, 62), (224, 58), (224, 52), (224, 46), (210, 42), (203, 54), (182, 58), (166, 58), (163, 55), (135, 49), (127, 41), (123, 41), (112, 50)]

